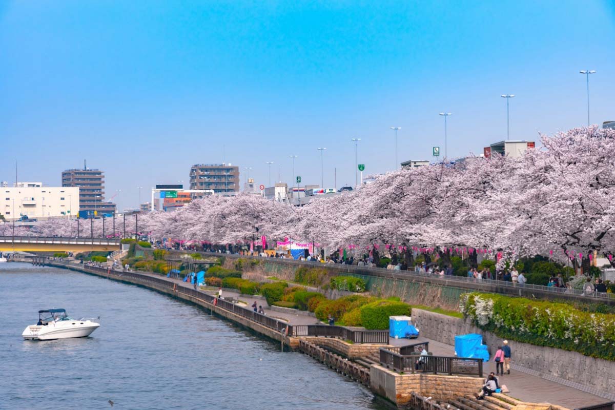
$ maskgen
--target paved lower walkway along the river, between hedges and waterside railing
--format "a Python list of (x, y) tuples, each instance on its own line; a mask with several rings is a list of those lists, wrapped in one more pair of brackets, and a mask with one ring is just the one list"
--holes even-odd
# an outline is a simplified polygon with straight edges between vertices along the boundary
[[(76, 269), (80, 271), (87, 270), (84, 269), (83, 266), (79, 264), (65, 264), (58, 263), (53, 264), (54, 266), (63, 266), (69, 267), (69, 269)], [(98, 268), (100, 269), (100, 268)], [(100, 269), (103, 271), (101, 276), (105, 276), (104, 271), (107, 269)], [(125, 275), (129, 276), (130, 272), (122, 272), (121, 270), (108, 270), (108, 272), (113, 272), (114, 276), (122, 277)], [(173, 286), (177, 286), (185, 289), (186, 292), (191, 291), (193, 286), (189, 283), (183, 282), (178, 278), (166, 278), (161, 277), (161, 275), (146, 273), (146, 272), (138, 272), (138, 275), (141, 277), (149, 277), (151, 280), (163, 281), (167, 283), (172, 283)], [(120, 279), (121, 280), (121, 279)], [(154, 287), (155, 288), (155, 287)], [(216, 294), (215, 290), (209, 291), (201, 291), (200, 293), (207, 293), (210, 296)], [(288, 313), (288, 312), (278, 312), (277, 310), (272, 310), (266, 304), (264, 299), (255, 299), (254, 296), (243, 295), (233, 291), (224, 291), (223, 297), (233, 298), (239, 301), (247, 302), (248, 306), (252, 304), (253, 300), (256, 300), (257, 304), (263, 306), (266, 315), (271, 317), (272, 319), (282, 320), (288, 323), (288, 325), (314, 325), (319, 323), (319, 321), (308, 315), (306, 312), (296, 311), (296, 313)], [(232, 318), (231, 318), (232, 320)], [(275, 333), (274, 333), (275, 334)], [(279, 333), (278, 333), (279, 334)], [(271, 334), (266, 336), (270, 336)], [(434, 355), (446, 355), (452, 356), (454, 355), (454, 347), (451, 345), (446, 345), (437, 341), (432, 341), (426, 338), (419, 338), (418, 340), (408, 341), (407, 339), (391, 339), (389, 341), (389, 345), (402, 347), (407, 344), (414, 344), (416, 342), (428, 341), (430, 351), (434, 353)], [(522, 352), (513, 352), (513, 358), (515, 355), (523, 354)], [(513, 362), (514, 363), (514, 362)], [(494, 371), (494, 363), (489, 362), (485, 364), (486, 373), (490, 371)], [(513, 370), (512, 374), (499, 377), (500, 384), (506, 384), (509, 388), (510, 393), (509, 396), (512, 398), (516, 398), (517, 400), (528, 402), (528, 403), (552, 403), (557, 404), (558, 406), (562, 406), (568, 409), (577, 409), (582, 407), (587, 407), (593, 404), (601, 404), (605, 403), (605, 398), (601, 398), (600, 396), (591, 395), (589, 393), (582, 392), (580, 390), (576, 390), (571, 387), (566, 387), (564, 385), (551, 382), (542, 377), (536, 377), (531, 374), (522, 373), (517, 370)]]

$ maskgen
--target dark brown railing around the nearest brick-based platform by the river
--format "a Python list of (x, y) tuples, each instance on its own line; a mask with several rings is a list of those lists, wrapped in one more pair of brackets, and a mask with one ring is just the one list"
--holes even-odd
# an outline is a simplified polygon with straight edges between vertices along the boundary
[(483, 360), (466, 357), (401, 355), (380, 348), (380, 364), (408, 373), (443, 373), (483, 377)]

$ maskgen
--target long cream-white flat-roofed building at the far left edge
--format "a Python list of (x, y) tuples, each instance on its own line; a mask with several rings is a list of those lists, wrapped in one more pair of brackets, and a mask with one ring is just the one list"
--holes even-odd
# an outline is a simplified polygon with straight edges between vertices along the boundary
[(17, 187), (0, 187), (0, 215), (10, 221), (28, 219), (71, 218), (79, 213), (79, 188), (51, 187), (41, 183), (19, 183)]

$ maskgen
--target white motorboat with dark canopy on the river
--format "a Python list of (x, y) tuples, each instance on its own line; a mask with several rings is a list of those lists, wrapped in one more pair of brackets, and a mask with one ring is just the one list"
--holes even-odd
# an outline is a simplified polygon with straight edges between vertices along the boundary
[(100, 326), (97, 319), (71, 319), (65, 309), (39, 310), (39, 321), (28, 326), (22, 333), (25, 340), (49, 341), (86, 337)]

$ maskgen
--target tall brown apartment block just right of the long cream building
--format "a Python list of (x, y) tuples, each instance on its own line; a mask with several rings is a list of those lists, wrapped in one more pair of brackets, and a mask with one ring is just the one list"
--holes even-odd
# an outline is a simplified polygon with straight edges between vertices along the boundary
[(62, 186), (79, 188), (79, 208), (101, 214), (113, 214), (116, 204), (105, 202), (105, 175), (101, 170), (84, 167), (62, 172)]

